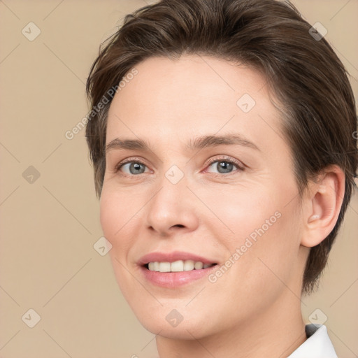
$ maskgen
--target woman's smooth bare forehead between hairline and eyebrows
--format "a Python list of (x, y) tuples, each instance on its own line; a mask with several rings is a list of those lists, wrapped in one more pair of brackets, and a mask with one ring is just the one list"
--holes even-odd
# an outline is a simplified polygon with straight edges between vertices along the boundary
[(252, 141), (282, 139), (266, 78), (248, 66), (185, 55), (150, 57), (135, 69), (110, 105), (107, 143), (125, 136), (172, 146), (194, 134), (231, 132)]

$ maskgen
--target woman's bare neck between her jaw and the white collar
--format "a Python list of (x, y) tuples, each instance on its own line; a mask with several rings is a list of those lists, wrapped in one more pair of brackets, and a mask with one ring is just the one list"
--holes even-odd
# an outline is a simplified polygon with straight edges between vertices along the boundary
[(160, 358), (262, 358), (288, 357), (306, 341), (299, 299), (287, 290), (270, 307), (226, 331), (192, 339), (157, 336)]

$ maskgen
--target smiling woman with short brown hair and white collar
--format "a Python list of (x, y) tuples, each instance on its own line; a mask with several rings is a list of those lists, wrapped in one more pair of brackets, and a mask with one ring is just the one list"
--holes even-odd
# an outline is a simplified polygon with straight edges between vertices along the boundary
[(319, 30), (275, 0), (163, 0), (92, 66), (101, 226), (160, 358), (336, 357), (301, 294), (352, 195), (357, 122)]

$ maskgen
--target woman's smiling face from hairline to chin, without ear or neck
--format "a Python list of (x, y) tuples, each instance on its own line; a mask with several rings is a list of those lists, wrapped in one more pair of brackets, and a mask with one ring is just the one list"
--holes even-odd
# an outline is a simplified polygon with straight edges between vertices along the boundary
[(138, 320), (192, 339), (299, 304), (299, 197), (266, 80), (195, 55), (136, 70), (108, 113), (101, 226)]

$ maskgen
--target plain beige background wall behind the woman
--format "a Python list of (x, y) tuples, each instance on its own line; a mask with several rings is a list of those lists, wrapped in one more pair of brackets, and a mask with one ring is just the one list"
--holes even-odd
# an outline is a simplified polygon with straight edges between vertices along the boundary
[[(293, 1), (321, 22), (358, 93), (357, 0)], [(85, 80), (99, 43), (143, 0), (0, 1), (0, 357), (155, 357), (155, 336), (120, 293), (102, 236), (85, 131)], [(41, 34), (29, 41), (22, 29)], [(29, 30), (27, 30), (29, 31)], [(31, 30), (34, 34), (34, 27)], [(38, 173), (27, 180), (23, 177)], [(339, 357), (358, 355), (358, 196), (305, 320), (327, 316)], [(22, 316), (41, 316), (29, 328)], [(321, 312), (322, 311), (322, 312)], [(29, 313), (25, 315), (29, 317)], [(34, 320), (34, 314), (31, 316)]]

